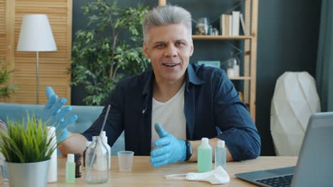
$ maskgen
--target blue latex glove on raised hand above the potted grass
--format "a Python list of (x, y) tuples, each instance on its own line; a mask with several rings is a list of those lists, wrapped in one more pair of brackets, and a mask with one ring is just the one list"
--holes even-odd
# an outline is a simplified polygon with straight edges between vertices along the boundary
[(60, 98), (58, 100), (58, 96), (50, 86), (46, 87), (46, 97), (48, 101), (43, 108), (42, 119), (43, 121), (48, 120), (49, 125), (56, 127), (58, 142), (61, 142), (68, 137), (68, 125), (75, 123), (78, 120), (78, 116), (70, 115), (68, 118), (65, 118), (72, 111), (72, 108), (70, 106), (62, 108), (67, 99)]

